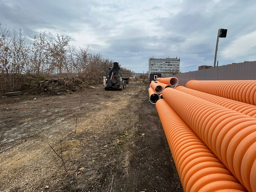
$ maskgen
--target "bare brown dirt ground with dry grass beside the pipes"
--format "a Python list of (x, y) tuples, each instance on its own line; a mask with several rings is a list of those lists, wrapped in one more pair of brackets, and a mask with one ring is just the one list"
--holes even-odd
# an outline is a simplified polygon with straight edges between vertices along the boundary
[(182, 192), (148, 87), (1, 97), (0, 191)]

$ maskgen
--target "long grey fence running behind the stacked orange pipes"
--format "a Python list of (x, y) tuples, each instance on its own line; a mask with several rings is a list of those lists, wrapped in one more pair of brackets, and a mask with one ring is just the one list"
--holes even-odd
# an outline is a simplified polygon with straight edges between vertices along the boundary
[(175, 76), (179, 84), (186, 85), (190, 80), (256, 80), (256, 61), (219, 66), (212, 69), (190, 71)]

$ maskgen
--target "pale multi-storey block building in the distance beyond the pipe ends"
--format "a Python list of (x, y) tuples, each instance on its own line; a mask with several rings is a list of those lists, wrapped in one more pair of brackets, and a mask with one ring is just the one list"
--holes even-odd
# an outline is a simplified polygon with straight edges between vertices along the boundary
[(177, 74), (179, 73), (180, 60), (176, 58), (166, 59), (149, 59), (149, 74), (151, 73), (161, 73), (162, 76)]

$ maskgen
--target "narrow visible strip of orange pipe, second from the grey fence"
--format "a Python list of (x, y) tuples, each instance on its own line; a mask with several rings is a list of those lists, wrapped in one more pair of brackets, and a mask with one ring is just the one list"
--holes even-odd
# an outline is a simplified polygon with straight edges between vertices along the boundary
[(236, 100), (223, 98), (223, 97), (215, 96), (215, 95), (204, 93), (204, 92), (199, 92), (197, 90), (189, 89), (184, 86), (177, 87), (177, 85), (176, 85), (175, 89), (182, 91), (184, 93), (196, 96), (198, 98), (208, 100), (212, 103), (221, 105), (223, 107), (227, 107), (228, 109), (232, 109), (234, 111), (238, 111), (245, 115), (256, 118), (256, 106), (255, 105), (250, 105), (250, 104), (239, 102)]

